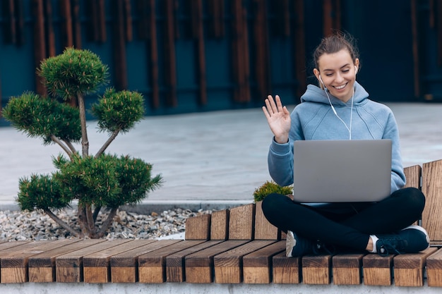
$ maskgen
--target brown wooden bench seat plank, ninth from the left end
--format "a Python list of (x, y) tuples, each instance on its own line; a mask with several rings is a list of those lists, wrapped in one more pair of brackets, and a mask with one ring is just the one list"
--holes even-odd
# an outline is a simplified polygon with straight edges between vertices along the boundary
[(273, 240), (251, 241), (216, 255), (213, 258), (215, 283), (241, 283), (242, 257), (273, 243), (275, 243)]

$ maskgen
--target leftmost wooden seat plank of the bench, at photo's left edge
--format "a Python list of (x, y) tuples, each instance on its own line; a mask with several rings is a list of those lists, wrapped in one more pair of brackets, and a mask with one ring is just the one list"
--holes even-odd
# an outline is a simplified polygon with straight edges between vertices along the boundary
[(25, 283), (28, 278), (28, 259), (45, 250), (72, 243), (72, 240), (34, 241), (19, 247), (11, 247), (1, 251), (0, 281), (1, 283)]

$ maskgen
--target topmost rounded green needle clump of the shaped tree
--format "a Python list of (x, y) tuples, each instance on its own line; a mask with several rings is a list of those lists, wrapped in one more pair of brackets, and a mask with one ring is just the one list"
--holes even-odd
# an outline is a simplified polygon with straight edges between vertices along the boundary
[(66, 48), (63, 54), (40, 63), (38, 74), (53, 96), (65, 101), (78, 93), (90, 94), (106, 82), (108, 67), (89, 50)]

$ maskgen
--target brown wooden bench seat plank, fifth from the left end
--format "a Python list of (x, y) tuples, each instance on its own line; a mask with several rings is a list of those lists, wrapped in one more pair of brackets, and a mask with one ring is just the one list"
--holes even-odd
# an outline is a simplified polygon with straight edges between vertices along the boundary
[(181, 240), (158, 240), (112, 256), (110, 258), (112, 283), (138, 282), (138, 257), (178, 242)]

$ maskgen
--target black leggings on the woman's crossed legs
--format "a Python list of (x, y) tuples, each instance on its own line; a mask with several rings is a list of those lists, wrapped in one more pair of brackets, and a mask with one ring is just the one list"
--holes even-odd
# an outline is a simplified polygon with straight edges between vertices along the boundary
[(365, 250), (369, 235), (393, 233), (420, 218), (425, 197), (416, 188), (397, 190), (381, 202), (341, 204), (352, 207), (345, 214), (311, 207), (280, 194), (263, 200), (265, 217), (282, 231), (293, 231), (310, 240), (338, 247)]

